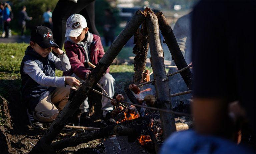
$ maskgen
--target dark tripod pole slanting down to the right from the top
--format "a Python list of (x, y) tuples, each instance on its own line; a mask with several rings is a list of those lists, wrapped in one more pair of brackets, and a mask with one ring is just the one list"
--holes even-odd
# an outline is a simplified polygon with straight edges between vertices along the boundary
[[(185, 58), (182, 55), (182, 52), (180, 51), (180, 47), (178, 45), (178, 42), (174, 36), (174, 33), (172, 31), (172, 28), (170, 25), (168, 25), (168, 22), (163, 15), (162, 12), (156, 13), (156, 16), (158, 18), (158, 24), (159, 28), (161, 30), (161, 33), (165, 39), (165, 43), (168, 46), (172, 59), (177, 66), (178, 70), (187, 67), (187, 63), (185, 61)], [(180, 72), (180, 75), (182, 76), (183, 80), (185, 81), (187, 87), (189, 90), (192, 89), (192, 78), (193, 74), (191, 73), (190, 69), (186, 69), (183, 72)]]

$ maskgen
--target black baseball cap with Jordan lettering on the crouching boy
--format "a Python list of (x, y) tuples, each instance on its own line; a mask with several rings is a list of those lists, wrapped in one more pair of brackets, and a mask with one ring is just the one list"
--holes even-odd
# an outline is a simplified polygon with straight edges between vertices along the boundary
[(50, 28), (45, 26), (36, 26), (32, 28), (30, 41), (37, 43), (42, 48), (59, 46), (53, 40), (53, 34)]

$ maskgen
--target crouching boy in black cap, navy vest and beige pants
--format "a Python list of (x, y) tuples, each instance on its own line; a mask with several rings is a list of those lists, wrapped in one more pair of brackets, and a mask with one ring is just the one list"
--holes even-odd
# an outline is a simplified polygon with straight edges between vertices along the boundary
[(75, 77), (55, 77), (55, 69), (70, 68), (68, 57), (53, 40), (52, 31), (44, 26), (34, 27), (20, 66), (22, 102), (28, 105), (32, 127), (43, 128), (40, 122), (55, 120), (67, 104), (70, 86), (79, 85), (80, 81)]

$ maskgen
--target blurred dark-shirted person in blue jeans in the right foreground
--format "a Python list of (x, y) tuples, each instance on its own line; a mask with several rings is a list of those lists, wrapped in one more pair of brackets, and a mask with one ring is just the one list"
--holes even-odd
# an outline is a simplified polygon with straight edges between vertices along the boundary
[(255, 19), (255, 1), (195, 6), (194, 130), (173, 133), (161, 153), (255, 153)]

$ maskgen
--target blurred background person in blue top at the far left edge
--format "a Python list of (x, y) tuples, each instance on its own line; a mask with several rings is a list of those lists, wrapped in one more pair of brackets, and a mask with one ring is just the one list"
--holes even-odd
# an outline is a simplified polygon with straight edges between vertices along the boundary
[(8, 3), (4, 3), (3, 22), (4, 22), (5, 38), (9, 37), (9, 26), (10, 26), (10, 21), (11, 21), (11, 11), (12, 11), (11, 6)]

